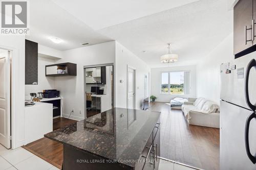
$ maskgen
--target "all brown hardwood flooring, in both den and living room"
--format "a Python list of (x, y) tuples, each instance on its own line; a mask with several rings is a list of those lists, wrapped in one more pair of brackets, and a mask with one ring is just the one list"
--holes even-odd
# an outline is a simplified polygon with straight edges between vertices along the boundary
[[(170, 110), (170, 106), (155, 102), (150, 110), (161, 111), (161, 157), (176, 160), (191, 166), (219, 169), (219, 129), (187, 125), (181, 110)], [(76, 122), (67, 118), (54, 119), (53, 129)], [(25, 149), (61, 168), (63, 145), (42, 138), (24, 146)]]

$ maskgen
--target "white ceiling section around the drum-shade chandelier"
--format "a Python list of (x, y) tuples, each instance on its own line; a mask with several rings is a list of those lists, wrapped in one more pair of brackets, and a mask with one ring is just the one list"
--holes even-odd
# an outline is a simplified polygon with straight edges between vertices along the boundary
[[(196, 64), (232, 33), (232, 11), (225, 0), (203, 0), (99, 30), (129, 48), (151, 67)], [(160, 63), (166, 43), (179, 55)], [(143, 53), (142, 51), (146, 51)]]

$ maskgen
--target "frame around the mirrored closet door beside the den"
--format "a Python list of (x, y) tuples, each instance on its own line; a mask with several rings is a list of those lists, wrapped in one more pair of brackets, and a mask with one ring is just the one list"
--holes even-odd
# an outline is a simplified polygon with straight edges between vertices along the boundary
[(113, 102), (113, 108), (116, 106), (116, 98), (115, 98), (115, 85), (116, 85), (116, 73), (115, 73), (115, 63), (105, 63), (105, 64), (93, 64), (93, 65), (84, 65), (83, 66), (83, 108), (84, 108), (84, 118), (87, 118), (86, 115), (86, 74), (85, 69), (91, 68), (91, 67), (100, 67), (100, 66), (113, 66), (113, 95), (112, 95), (112, 102)]

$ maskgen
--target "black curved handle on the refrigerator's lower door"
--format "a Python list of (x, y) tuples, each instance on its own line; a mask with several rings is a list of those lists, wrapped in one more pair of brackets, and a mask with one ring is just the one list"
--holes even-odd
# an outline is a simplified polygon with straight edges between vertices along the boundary
[(251, 155), (250, 146), (249, 146), (249, 128), (250, 128), (251, 119), (253, 119), (253, 118), (256, 118), (256, 113), (254, 113), (254, 112), (252, 112), (247, 117), (247, 120), (246, 120), (246, 124), (245, 124), (245, 149), (246, 149), (247, 156), (249, 157), (251, 162), (253, 164), (255, 164), (256, 163), (256, 154)]

